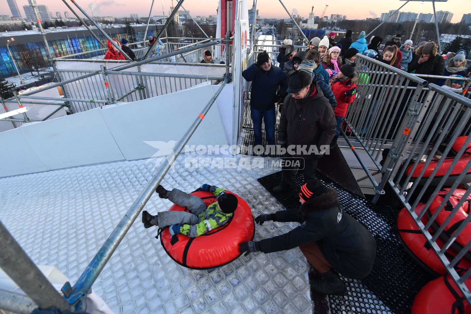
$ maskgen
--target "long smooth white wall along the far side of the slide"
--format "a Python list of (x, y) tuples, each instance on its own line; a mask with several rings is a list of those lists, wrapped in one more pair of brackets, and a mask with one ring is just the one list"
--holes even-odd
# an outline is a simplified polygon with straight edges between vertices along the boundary
[[(167, 143), (179, 141), (218, 87), (203, 83), (159, 97), (107, 105), (1, 132), (0, 177), (167, 155)], [(232, 128), (228, 110), (232, 111), (230, 84), (204, 116), (188, 145), (228, 145), (227, 138), (232, 136), (226, 135), (226, 129)]]

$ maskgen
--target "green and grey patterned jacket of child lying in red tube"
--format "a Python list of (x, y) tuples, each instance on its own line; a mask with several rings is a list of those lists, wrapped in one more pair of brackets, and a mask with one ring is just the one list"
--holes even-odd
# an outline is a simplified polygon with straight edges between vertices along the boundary
[[(222, 193), (226, 193), (226, 190), (215, 185), (211, 185), (210, 192), (219, 196)], [(204, 233), (210, 232), (212, 229), (225, 225), (232, 218), (232, 213), (225, 214), (220, 211), (218, 209), (218, 202), (216, 201), (199, 214), (198, 218), (200, 219), (200, 222), (196, 225), (181, 225), (180, 233), (185, 234), (190, 238), (200, 236)]]

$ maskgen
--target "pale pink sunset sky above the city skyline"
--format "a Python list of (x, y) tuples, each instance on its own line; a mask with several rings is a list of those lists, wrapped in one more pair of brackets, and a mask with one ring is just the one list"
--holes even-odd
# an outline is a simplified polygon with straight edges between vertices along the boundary
[[(49, 11), (51, 11), (54, 16), (56, 11), (60, 11), (62, 16), (64, 16), (64, 11), (67, 11), (67, 7), (61, 0), (36, 0), (38, 4), (47, 5)], [(252, 7), (253, 0), (249, 0), (249, 8)], [(94, 8), (93, 14), (96, 16), (129, 16), (129, 14), (134, 13), (139, 16), (148, 16), (149, 9), (151, 5), (151, 0), (78, 0), (77, 3), (82, 7), (87, 9), (90, 13), (89, 6), (91, 5)], [(284, 0), (286, 8), (290, 11), (293, 9), (299, 11), (300, 15), (307, 18), (309, 12), (311, 11), (311, 6), (314, 5), (314, 13), (320, 15), (322, 10), (325, 7), (325, 4), (329, 4), (326, 16), (331, 14), (341, 14), (346, 15), (347, 19), (364, 19), (366, 17), (381, 16), (382, 12), (387, 12), (389, 10), (396, 10), (405, 2), (400, 0), (391, 0), (391, 1), (371, 1), (371, 0), (337, 0), (335, 2), (330, 1), (309, 1), (306, 0)], [(23, 6), (28, 4), (27, 0), (16, 0), (18, 8), (20, 9), (21, 14), (24, 16)], [(171, 6), (171, 0), (163, 0), (165, 7), (165, 14), (168, 14), (168, 11)], [(177, 1), (174, 1), (176, 4)], [(209, 16), (216, 14), (216, 8), (218, 7), (218, 0), (186, 0), (184, 2), (184, 7), (190, 11), (192, 16)], [(471, 13), (470, 0), (449, 0), (448, 2), (436, 2), (435, 8), (437, 11), (451, 11), (454, 13), (452, 23), (457, 23), (461, 21), (463, 13)], [(411, 1), (407, 3), (404, 8), (401, 9), (403, 12), (415, 12), (419, 13), (421, 2)], [(279, 3), (278, 0), (258, 0), (257, 8), (259, 9), (259, 15), (263, 18), (276, 17), (283, 18), (287, 17), (286, 12)], [(467, 10), (467, 11), (463, 11)], [(433, 13), (432, 3), (424, 2), (422, 7), (422, 13)], [(10, 14), (8, 8), (7, 0), (0, 0), (0, 14)], [(152, 15), (162, 15), (162, 0), (157, 0), (154, 2), (154, 9), (152, 10)]]

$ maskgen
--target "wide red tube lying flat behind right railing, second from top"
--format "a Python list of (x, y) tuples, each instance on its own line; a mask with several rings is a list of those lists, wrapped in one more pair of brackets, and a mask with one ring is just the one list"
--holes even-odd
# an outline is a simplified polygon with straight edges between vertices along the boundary
[[(442, 157), (443, 158), (443, 157)], [(456, 178), (465, 170), (466, 164), (470, 160), (471, 155), (469, 154), (463, 154), (460, 157), (460, 160), (458, 163), (456, 163), (455, 168), (451, 171), (450, 175), (448, 176), (447, 180), (445, 181), (445, 185), (452, 185), (455, 183)], [(455, 157), (446, 157), (445, 161), (441, 164), (439, 170), (435, 174), (435, 177), (433, 177), (431, 186), (436, 186), (439, 184), (440, 180), (442, 177), (445, 175), (447, 170), (450, 168), (452, 162), (455, 160)], [(425, 181), (430, 177), (432, 174), (433, 170), (435, 170), (435, 167), (437, 167), (439, 163), (439, 159), (433, 159), (430, 161), (427, 169), (423, 173), (422, 179), (420, 180), (419, 184), (425, 184)], [(412, 167), (414, 165), (409, 165), (406, 169), (406, 175), (408, 176), (411, 171)], [(417, 167), (415, 168), (414, 172), (412, 173), (411, 180), (414, 181), (419, 177), (419, 174), (422, 172), (423, 167), (425, 166), (425, 161), (421, 161), (417, 164)], [(460, 183), (467, 183), (471, 182), (471, 167), (467, 169), (466, 176), (463, 177), (463, 181)]]

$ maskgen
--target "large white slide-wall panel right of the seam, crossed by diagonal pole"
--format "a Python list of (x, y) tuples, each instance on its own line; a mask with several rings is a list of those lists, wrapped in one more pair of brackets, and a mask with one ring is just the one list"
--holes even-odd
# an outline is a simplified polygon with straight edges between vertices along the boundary
[[(131, 104), (108, 105), (101, 114), (126, 160), (158, 157), (170, 153), (213, 95), (205, 83)], [(218, 105), (213, 104), (187, 145), (227, 144)]]

